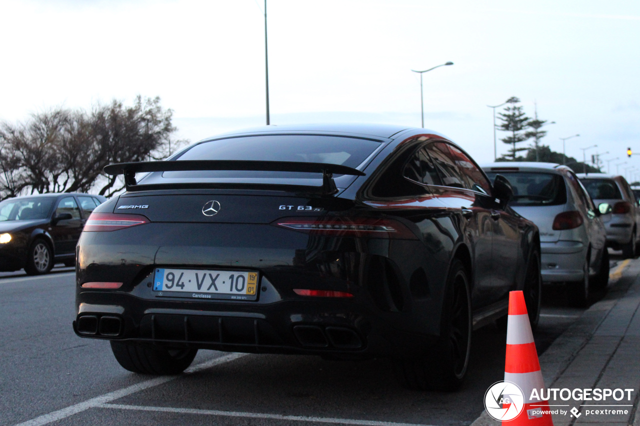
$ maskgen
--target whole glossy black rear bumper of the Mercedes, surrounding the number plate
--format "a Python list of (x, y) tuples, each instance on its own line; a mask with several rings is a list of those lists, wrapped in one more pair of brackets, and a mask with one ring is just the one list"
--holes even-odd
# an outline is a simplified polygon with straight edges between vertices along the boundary
[[(151, 223), (85, 232), (77, 253), (74, 330), (81, 337), (235, 352), (411, 356), (428, 351), (440, 332), (448, 263), (417, 240), (319, 237), (271, 225)], [(257, 271), (259, 297), (158, 297), (152, 281), (161, 266)], [(79, 287), (88, 281), (124, 284)], [(305, 297), (294, 288), (353, 297)]]

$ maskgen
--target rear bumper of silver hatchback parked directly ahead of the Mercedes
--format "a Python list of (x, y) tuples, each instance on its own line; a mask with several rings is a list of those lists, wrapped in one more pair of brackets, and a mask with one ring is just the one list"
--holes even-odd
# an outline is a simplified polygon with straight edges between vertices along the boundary
[(579, 281), (584, 276), (586, 248), (580, 241), (541, 242), (541, 274), (545, 283)]

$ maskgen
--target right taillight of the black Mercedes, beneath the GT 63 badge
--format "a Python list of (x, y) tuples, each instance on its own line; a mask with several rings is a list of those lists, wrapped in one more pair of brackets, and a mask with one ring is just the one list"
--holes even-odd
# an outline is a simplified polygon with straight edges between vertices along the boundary
[(417, 240), (409, 228), (392, 219), (373, 217), (284, 217), (273, 225), (312, 235)]

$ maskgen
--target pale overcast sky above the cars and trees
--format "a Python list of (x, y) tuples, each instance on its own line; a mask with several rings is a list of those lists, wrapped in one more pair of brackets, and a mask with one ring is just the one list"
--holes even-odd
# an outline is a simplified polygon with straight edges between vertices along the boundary
[[(192, 142), (264, 124), (262, 0), (0, 0), (0, 16), (0, 120), (141, 94)], [(419, 127), (411, 70), (453, 61), (424, 74), (425, 127), (479, 162), (493, 160), (486, 105), (511, 96), (556, 122), (554, 150), (579, 133), (573, 157), (597, 144), (614, 169), (640, 153), (637, 0), (268, 0), (268, 19), (273, 124)]]

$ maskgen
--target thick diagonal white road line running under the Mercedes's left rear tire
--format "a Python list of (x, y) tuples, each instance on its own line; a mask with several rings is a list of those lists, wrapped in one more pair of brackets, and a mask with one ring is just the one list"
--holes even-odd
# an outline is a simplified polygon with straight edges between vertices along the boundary
[[(185, 370), (185, 373), (189, 374), (189, 373), (202, 371), (207, 368), (214, 367), (214, 365), (228, 363), (229, 361), (233, 361), (234, 359), (240, 358), (241, 356), (245, 356), (245, 355), (248, 355), (248, 354), (232, 353), (226, 356), (221, 356), (220, 358), (211, 359), (209, 361), (205, 361), (204, 363), (200, 363), (193, 367), (187, 368), (187, 370)], [(102, 406), (103, 404), (106, 404), (113, 400), (126, 397), (127, 395), (131, 395), (132, 393), (136, 393), (141, 390), (153, 388), (154, 386), (158, 386), (159, 384), (170, 382), (179, 377), (181, 376), (180, 375), (164, 375), (161, 377), (156, 377), (155, 379), (150, 379), (140, 383), (132, 384), (131, 386), (127, 386), (127, 388), (122, 388), (113, 392), (105, 393), (104, 395), (100, 395), (99, 397), (91, 398), (84, 402), (79, 402), (78, 404), (68, 406), (58, 411), (52, 411), (51, 413), (48, 413), (48, 414), (42, 414), (42, 416), (38, 416), (34, 419), (28, 420), (27, 422), (19, 423), (15, 426), (41, 426), (41, 425), (46, 425), (47, 423), (57, 422), (58, 420), (62, 420), (63, 418), (73, 416), (74, 414), (81, 413), (82, 411), (88, 410), (90, 408)]]

